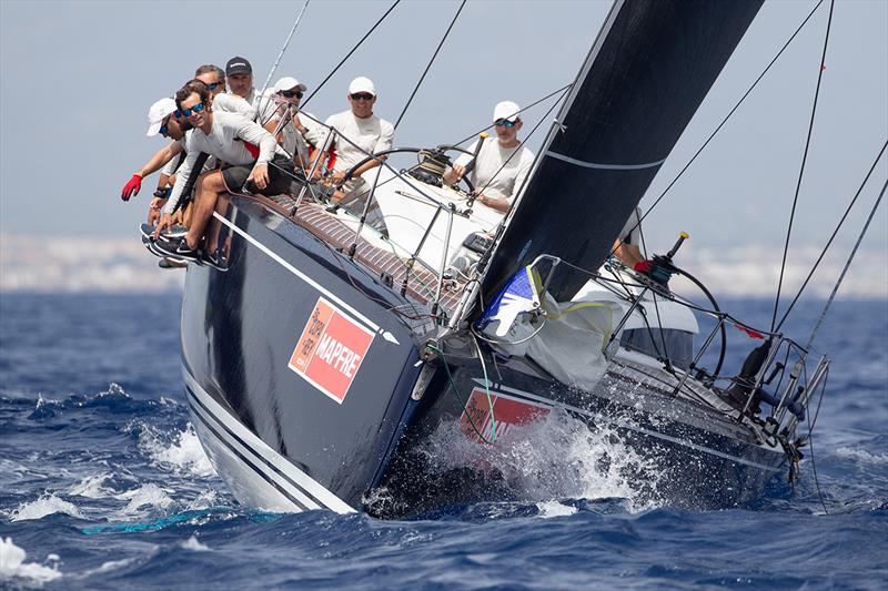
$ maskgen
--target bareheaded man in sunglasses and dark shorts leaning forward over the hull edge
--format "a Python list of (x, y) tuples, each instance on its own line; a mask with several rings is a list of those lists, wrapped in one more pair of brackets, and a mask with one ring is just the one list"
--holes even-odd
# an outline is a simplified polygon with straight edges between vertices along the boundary
[[(242, 188), (276, 195), (289, 190), (293, 165), (274, 137), (258, 123), (238, 113), (213, 112), (204, 84), (189, 83), (175, 93), (176, 106), (194, 130), (185, 142), (188, 155), (179, 170), (170, 200), (163, 206), (154, 238), (171, 226), (172, 213), (190, 179), (199, 169), (201, 154), (215, 156), (226, 166), (202, 174), (196, 181), (194, 212), (188, 234), (178, 246), (157, 244), (164, 255), (198, 261), (199, 247), (215, 210), (219, 195)], [(273, 165), (270, 166), (270, 163)], [(192, 172), (194, 171), (194, 172)]]

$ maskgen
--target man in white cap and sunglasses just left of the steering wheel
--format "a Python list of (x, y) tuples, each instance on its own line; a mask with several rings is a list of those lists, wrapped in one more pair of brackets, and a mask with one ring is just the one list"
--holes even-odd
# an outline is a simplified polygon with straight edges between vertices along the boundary
[[(359, 77), (349, 84), (349, 104), (351, 109), (330, 115), (325, 123), (335, 129), (341, 135), (350, 141), (336, 136), (333, 140), (335, 161), (333, 163), (333, 174), (330, 183), (334, 186), (342, 184), (345, 173), (355, 164), (366, 157), (392, 147), (394, 140), (394, 126), (373, 114), (373, 105), (376, 104), (376, 88), (369, 78)], [(355, 144), (357, 147), (355, 147)], [(325, 157), (326, 154), (322, 154)], [(382, 164), (382, 160), (371, 160), (354, 171), (352, 179), (342, 186), (345, 193), (352, 193), (363, 185), (361, 175)]]

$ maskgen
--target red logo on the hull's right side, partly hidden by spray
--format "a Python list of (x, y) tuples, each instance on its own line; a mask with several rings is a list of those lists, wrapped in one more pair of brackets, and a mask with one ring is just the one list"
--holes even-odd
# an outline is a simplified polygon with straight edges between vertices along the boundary
[(552, 409), (545, 405), (502, 393), (491, 393), (488, 401), (486, 389), (473, 388), (460, 420), (463, 432), (470, 439), (481, 442), (482, 439), (478, 437), (481, 432), (486, 441), (493, 442), (497, 437), (504, 436), (509, 428), (528, 425), (548, 415), (549, 410)]

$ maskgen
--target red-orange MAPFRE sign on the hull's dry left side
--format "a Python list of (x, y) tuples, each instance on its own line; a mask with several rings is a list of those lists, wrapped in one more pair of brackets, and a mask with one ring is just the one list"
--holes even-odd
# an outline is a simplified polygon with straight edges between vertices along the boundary
[(342, 404), (373, 337), (369, 329), (319, 297), (287, 366)]

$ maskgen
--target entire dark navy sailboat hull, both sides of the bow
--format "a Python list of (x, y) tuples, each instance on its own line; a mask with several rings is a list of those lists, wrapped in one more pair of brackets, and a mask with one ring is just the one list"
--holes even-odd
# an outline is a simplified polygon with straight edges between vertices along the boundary
[[(420, 346), (431, 336), (431, 323), (418, 319), (422, 305), (263, 202), (232, 197), (210, 235), (228, 269), (189, 267), (183, 375), (201, 440), (242, 502), (394, 517), (521, 499), (507, 473), (477, 463), (442, 471), (424, 451), (448, 420), (471, 424), (463, 437), (483, 446), (490, 417), (471, 348), (454, 349), (446, 367), (442, 358), (421, 363)], [(309, 338), (324, 313), (341, 326), (324, 320), (319, 334), (345, 343), (342, 350), (323, 335), (320, 345)], [(326, 374), (311, 366), (320, 363), (314, 357), (307, 369), (297, 367), (311, 346), (329, 346), (329, 355), (315, 355), (330, 361)], [(343, 353), (353, 349), (357, 361)], [(500, 414), (501, 428), (554, 410), (610, 429), (665, 475), (653, 491), (664, 502), (743, 505), (786, 469), (784, 452), (757, 441), (754, 429), (680, 398), (642, 395), (616, 378), (589, 394), (513, 363), (497, 368), (495, 381), (490, 394), (500, 408), (516, 409), (512, 419)], [(637, 478), (643, 489), (645, 475)]]

